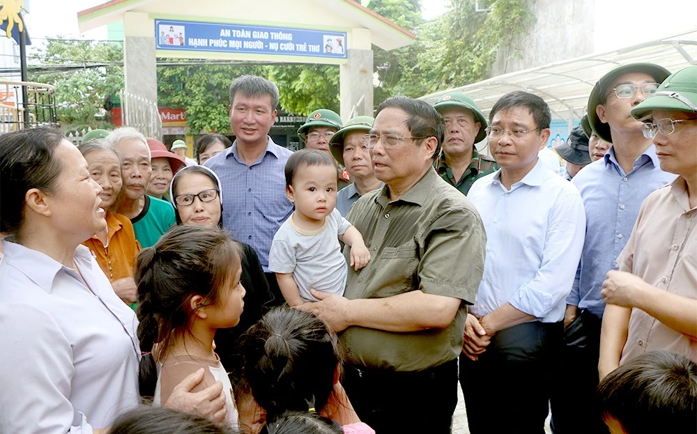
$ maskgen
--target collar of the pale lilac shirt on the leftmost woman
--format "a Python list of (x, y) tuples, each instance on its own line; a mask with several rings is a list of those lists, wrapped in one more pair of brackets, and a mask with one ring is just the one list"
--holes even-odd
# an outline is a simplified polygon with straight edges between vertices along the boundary
[[(5, 262), (8, 266), (12, 266), (22, 272), (47, 293), (51, 293), (53, 281), (59, 271), (65, 270), (68, 274), (77, 278), (75, 270), (66, 267), (47, 254), (29, 249), (7, 238), (3, 240), (3, 250), (6, 254)], [(83, 245), (77, 246), (77, 249), (75, 249), (75, 264), (78, 267), (90, 267), (91, 258), (92, 256), (87, 247)], [(38, 263), (41, 264), (40, 267), (36, 266)]]

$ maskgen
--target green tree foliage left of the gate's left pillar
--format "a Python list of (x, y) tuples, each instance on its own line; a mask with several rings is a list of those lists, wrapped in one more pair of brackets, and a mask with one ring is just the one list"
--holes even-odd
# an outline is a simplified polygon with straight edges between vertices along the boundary
[[(110, 125), (104, 100), (123, 88), (123, 47), (89, 40), (48, 40), (30, 52), (29, 81), (56, 87), (59, 122), (82, 129)], [(32, 65), (52, 67), (32, 70)], [(95, 63), (103, 66), (90, 67)], [(84, 67), (63, 68), (60, 67)]]

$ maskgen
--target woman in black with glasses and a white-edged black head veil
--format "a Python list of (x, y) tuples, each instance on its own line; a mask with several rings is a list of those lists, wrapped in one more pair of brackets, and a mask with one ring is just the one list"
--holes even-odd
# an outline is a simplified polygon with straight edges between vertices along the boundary
[[(172, 178), (169, 197), (177, 224), (223, 230), (220, 179), (208, 167), (187, 166), (178, 171)], [(240, 242), (240, 245), (243, 250), (240, 282), (247, 290), (245, 310), (237, 327), (218, 329), (215, 333), (215, 352), (223, 366), (231, 371), (242, 363), (236, 352), (238, 338), (266, 313), (273, 301), (259, 257), (250, 245), (244, 242)]]

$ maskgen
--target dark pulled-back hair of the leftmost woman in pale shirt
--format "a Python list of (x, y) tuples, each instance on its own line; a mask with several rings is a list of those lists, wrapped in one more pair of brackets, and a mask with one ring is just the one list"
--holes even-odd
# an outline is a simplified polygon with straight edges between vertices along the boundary
[(52, 192), (63, 170), (54, 155), (63, 139), (62, 132), (46, 127), (0, 134), (0, 232), (20, 231), (26, 192)]

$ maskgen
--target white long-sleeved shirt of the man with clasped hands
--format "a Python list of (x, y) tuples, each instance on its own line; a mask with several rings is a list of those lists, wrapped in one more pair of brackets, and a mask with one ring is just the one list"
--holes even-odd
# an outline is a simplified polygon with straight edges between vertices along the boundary
[(477, 180), (468, 199), (487, 231), (484, 277), (470, 313), (506, 302), (543, 323), (564, 318), (579, 265), (585, 212), (579, 191), (541, 160), (507, 190), (498, 170)]

